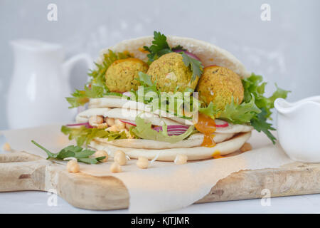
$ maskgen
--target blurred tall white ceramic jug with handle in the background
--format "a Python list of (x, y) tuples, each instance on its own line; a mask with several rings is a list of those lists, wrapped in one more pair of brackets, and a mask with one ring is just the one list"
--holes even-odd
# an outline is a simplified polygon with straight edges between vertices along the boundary
[(91, 67), (87, 54), (63, 62), (63, 47), (43, 41), (11, 41), (14, 48), (14, 71), (7, 98), (10, 129), (28, 128), (73, 121), (76, 109), (69, 109), (70, 70), (80, 60)]

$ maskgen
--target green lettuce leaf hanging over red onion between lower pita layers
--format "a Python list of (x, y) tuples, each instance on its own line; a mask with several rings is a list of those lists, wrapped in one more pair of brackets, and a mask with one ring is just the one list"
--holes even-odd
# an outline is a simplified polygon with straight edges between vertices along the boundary
[(132, 132), (134, 135), (137, 135), (139, 138), (143, 138), (146, 140), (156, 140), (162, 142), (179, 142), (185, 138), (187, 138), (191, 133), (193, 133), (194, 126), (191, 125), (185, 133), (181, 135), (171, 135), (169, 136), (167, 133), (166, 125), (162, 126), (162, 130), (157, 132), (151, 128), (151, 123), (144, 122), (144, 119), (139, 116), (136, 117), (136, 125), (137, 127), (132, 128)]

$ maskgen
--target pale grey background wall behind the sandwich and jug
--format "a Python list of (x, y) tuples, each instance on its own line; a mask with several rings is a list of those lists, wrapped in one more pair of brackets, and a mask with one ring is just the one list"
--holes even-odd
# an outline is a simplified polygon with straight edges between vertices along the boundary
[[(58, 6), (58, 21), (47, 20), (47, 6)], [(271, 21), (260, 6), (271, 6)], [(269, 84), (289, 90), (289, 100), (320, 94), (320, 1), (18, 1), (0, 0), (0, 129), (8, 128), (5, 104), (13, 55), (9, 41), (36, 38), (62, 43), (67, 56), (101, 48), (154, 30), (190, 36), (227, 49)], [(82, 88), (87, 69), (78, 64), (71, 83)], [(66, 103), (67, 105), (67, 103)]]

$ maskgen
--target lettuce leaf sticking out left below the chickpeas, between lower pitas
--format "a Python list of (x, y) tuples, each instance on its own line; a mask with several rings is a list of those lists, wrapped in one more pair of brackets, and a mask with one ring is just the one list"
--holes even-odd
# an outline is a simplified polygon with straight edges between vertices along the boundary
[(127, 135), (124, 131), (112, 132), (100, 128), (69, 128), (67, 126), (61, 127), (61, 132), (69, 135), (69, 140), (75, 140), (78, 146), (88, 145), (94, 138), (107, 138), (108, 141), (117, 139), (126, 139)]

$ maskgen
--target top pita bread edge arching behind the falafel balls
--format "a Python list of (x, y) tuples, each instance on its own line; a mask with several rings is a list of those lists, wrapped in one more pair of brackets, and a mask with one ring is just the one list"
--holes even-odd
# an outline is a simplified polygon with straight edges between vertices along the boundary
[[(231, 53), (225, 51), (223, 48), (214, 46), (211, 43), (205, 41), (199, 41), (194, 38), (178, 37), (178, 36), (166, 36), (169, 46), (175, 47), (178, 45), (183, 46), (189, 52), (195, 54), (200, 58), (203, 66), (223, 66), (238, 73), (240, 77), (250, 76), (250, 72), (246, 70), (245, 66), (235, 58)], [(133, 38), (122, 41), (116, 45), (103, 49), (100, 52), (100, 57), (97, 59), (97, 63), (101, 64), (103, 61), (103, 54), (107, 53), (108, 49), (115, 52), (129, 51), (134, 54), (135, 58), (147, 61), (146, 52), (143, 51), (144, 46), (151, 46), (153, 36), (144, 36), (140, 38)]]

